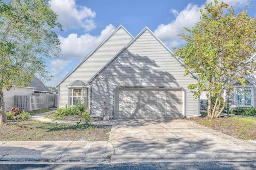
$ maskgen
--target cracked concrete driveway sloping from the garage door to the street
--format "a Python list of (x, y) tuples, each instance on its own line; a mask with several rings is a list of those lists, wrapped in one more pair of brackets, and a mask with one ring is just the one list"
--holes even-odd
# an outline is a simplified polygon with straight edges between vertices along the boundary
[(256, 160), (256, 143), (185, 119), (115, 119), (111, 162), (136, 160)]

